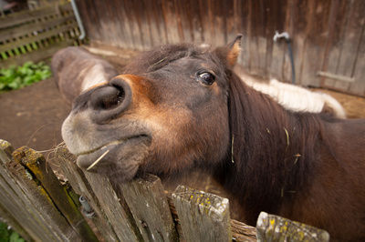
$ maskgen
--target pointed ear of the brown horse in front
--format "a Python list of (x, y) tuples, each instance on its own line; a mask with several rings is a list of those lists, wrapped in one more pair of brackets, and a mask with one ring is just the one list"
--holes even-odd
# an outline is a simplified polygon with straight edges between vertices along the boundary
[(242, 35), (239, 34), (235, 37), (235, 40), (228, 45), (217, 47), (214, 52), (218, 55), (227, 66), (233, 67), (237, 62), (238, 55), (241, 52), (241, 39)]

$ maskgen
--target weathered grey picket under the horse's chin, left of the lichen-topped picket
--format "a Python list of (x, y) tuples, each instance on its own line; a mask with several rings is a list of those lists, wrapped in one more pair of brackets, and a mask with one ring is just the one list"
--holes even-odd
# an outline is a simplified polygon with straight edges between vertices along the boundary
[(120, 185), (145, 241), (177, 241), (169, 203), (159, 177), (147, 175)]

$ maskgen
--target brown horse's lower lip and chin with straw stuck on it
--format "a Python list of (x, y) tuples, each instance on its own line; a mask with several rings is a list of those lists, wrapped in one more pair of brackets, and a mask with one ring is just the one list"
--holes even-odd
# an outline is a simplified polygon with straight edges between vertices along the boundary
[(110, 142), (78, 155), (77, 165), (88, 171), (108, 176), (120, 182), (129, 181), (149, 155), (151, 138), (137, 136), (123, 142)]

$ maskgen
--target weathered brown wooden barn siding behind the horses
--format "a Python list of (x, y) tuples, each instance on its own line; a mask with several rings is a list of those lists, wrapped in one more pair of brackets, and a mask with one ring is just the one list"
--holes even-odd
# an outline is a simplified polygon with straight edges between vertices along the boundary
[[(91, 41), (145, 50), (180, 42), (224, 45), (244, 34), (240, 63), (250, 74), (291, 81), (284, 40), (292, 38), (297, 84), (365, 96), (365, 1), (78, 0)], [(318, 72), (353, 78), (352, 82)]]

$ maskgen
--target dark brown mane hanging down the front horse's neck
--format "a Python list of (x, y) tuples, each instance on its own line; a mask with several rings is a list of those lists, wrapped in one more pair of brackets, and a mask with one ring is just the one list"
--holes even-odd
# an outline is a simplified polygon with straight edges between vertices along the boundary
[(304, 186), (318, 148), (320, 121), (285, 110), (234, 74), (230, 81), (232, 156), (228, 187), (247, 207), (275, 210), (274, 201)]

